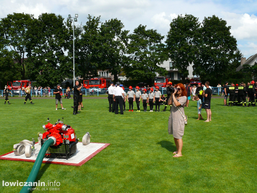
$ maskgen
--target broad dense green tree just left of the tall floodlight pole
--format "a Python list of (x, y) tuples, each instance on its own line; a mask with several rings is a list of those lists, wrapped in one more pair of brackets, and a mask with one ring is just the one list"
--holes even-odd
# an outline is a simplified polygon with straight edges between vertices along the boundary
[(27, 31), (26, 67), (28, 75), (38, 84), (54, 86), (72, 77), (73, 66), (64, 54), (68, 29), (63, 20), (61, 15), (43, 13)]

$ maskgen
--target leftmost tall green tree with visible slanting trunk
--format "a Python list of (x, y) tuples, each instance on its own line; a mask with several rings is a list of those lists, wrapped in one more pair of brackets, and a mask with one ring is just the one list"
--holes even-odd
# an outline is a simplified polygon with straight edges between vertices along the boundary
[(12, 55), (15, 57), (14, 60), (19, 65), (19, 68), (16, 68), (16, 66), (15, 69), (20, 72), (22, 79), (27, 77), (25, 75), (24, 58), (28, 51), (26, 45), (29, 44), (27, 31), (33, 20), (33, 15), (13, 13), (8, 14), (7, 17), (2, 18), (0, 21), (1, 44), (4, 45), (5, 49), (16, 52), (16, 54), (13, 53)]

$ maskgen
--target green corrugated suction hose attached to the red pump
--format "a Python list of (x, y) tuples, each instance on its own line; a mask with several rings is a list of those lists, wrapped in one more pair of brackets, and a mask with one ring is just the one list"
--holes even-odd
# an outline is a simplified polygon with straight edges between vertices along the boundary
[[(45, 153), (47, 152), (48, 147), (50, 145), (53, 145), (54, 143), (55, 143), (54, 139), (49, 137), (47, 139), (47, 141), (45, 141), (44, 144), (42, 145), (42, 147), (41, 147), (41, 149), (40, 149), (40, 151), (38, 153), (38, 156), (36, 157), (36, 161), (35, 161), (35, 163), (33, 165), (33, 168), (32, 168), (32, 170), (30, 172), (30, 175), (29, 175), (29, 177), (27, 179), (28, 184), (30, 182), (32, 182), (32, 184), (33, 184), (33, 182), (35, 182), (36, 177), (38, 176), (39, 169), (40, 169), (41, 164), (43, 162)], [(20, 191), (20, 193), (28, 193), (30, 191), (31, 187), (33, 187), (33, 186), (23, 186), (21, 191)]]

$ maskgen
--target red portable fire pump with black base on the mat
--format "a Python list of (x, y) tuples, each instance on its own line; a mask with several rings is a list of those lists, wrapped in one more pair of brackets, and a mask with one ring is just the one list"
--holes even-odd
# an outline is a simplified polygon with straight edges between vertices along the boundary
[(54, 137), (56, 139), (56, 143), (47, 149), (45, 157), (68, 159), (76, 152), (79, 139), (77, 139), (75, 131), (70, 125), (63, 124), (63, 118), (62, 121), (58, 119), (58, 122), (54, 125), (49, 121), (50, 120), (48, 118), (48, 120), (45, 121), (48, 122), (48, 124), (43, 125), (43, 129), (47, 131), (43, 134), (38, 134), (39, 137), (42, 136), (41, 147), (49, 137)]

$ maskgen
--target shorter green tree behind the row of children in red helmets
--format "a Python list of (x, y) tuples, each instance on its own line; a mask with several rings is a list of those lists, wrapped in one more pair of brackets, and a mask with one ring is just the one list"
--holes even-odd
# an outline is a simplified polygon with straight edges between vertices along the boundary
[(146, 29), (146, 25), (139, 25), (129, 35), (129, 38), (130, 60), (124, 64), (126, 77), (145, 79), (150, 83), (156, 73), (167, 74), (166, 69), (160, 67), (168, 59), (168, 54), (164, 49), (165, 45), (162, 43), (164, 36), (157, 30)]

